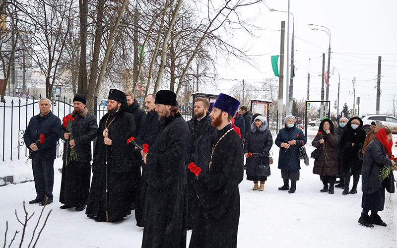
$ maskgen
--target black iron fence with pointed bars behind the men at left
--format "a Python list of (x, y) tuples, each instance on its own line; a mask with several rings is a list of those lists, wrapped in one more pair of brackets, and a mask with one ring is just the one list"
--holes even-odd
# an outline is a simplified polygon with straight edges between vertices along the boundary
[[(23, 141), (23, 134), (29, 124), (30, 118), (40, 113), (40, 100), (16, 97), (6, 97), (5, 100), (4, 103), (0, 104), (0, 116), (3, 119), (2, 126), (0, 124), (0, 130), (2, 131), (2, 135), (0, 135), (1, 159), (4, 161), (5, 159), (8, 160), (8, 158), (9, 160), (20, 159), (21, 157), (26, 158), (28, 156), (28, 149)], [(70, 98), (52, 97), (51, 102), (52, 113), (61, 120), (73, 111), (73, 103)], [(186, 121), (192, 118), (192, 106), (192, 103), (180, 104), (180, 112)], [(107, 113), (107, 107), (95, 104), (94, 110), (91, 113), (96, 116), (99, 123), (101, 118)], [(64, 140), (61, 139), (60, 141), (57, 144), (57, 157), (63, 154)]]

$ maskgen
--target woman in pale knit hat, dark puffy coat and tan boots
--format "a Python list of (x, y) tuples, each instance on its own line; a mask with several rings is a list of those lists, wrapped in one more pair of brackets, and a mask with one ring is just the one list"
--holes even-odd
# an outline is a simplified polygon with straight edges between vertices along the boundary
[[(265, 118), (257, 116), (255, 122), (251, 124), (250, 131), (246, 133), (244, 143), (244, 155), (247, 158), (247, 180), (254, 181), (253, 190), (259, 188), (260, 191), (263, 191), (265, 189), (267, 177), (256, 176), (255, 169), (259, 164), (269, 165), (269, 151), (272, 145), (273, 138), (270, 130), (267, 129)], [(261, 181), (259, 187), (258, 181)]]

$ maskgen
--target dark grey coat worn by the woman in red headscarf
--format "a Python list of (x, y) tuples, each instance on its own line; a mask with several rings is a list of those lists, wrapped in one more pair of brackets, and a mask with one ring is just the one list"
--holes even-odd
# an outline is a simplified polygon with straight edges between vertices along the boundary
[(361, 185), (364, 193), (372, 194), (383, 188), (379, 174), (384, 165), (392, 165), (392, 161), (388, 159), (385, 147), (375, 138), (368, 144), (364, 154)]

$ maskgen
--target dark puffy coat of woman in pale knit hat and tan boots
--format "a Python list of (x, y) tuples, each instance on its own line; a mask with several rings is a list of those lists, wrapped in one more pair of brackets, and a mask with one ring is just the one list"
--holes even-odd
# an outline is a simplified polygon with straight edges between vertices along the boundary
[(259, 164), (269, 165), (269, 151), (273, 145), (273, 137), (271, 132), (267, 129), (267, 123), (262, 124), (259, 128), (255, 123), (251, 124), (251, 130), (246, 133), (244, 143), (244, 153), (260, 153), (261, 155), (252, 155), (247, 158), (247, 171), (248, 176), (255, 176), (255, 169)]

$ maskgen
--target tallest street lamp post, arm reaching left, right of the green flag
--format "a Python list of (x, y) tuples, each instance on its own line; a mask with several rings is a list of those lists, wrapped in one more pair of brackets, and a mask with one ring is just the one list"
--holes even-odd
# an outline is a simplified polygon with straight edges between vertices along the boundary
[[(287, 27), (287, 62), (289, 61), (289, 14), (292, 15), (292, 38), (291, 38), (291, 71), (290, 75), (289, 74), (289, 67), (287, 64), (287, 88), (286, 88), (286, 104), (285, 104), (285, 113), (286, 115), (292, 115), (292, 102), (293, 102), (293, 85), (294, 85), (294, 41), (295, 41), (295, 32), (294, 32), (294, 24), (295, 24), (295, 18), (294, 14), (289, 11), (289, 0), (288, 0), (288, 11), (283, 11), (283, 10), (277, 10), (270, 8), (270, 12), (277, 11), (277, 12), (284, 12), (288, 13), (288, 27)], [(288, 78), (289, 76), (289, 78)]]

